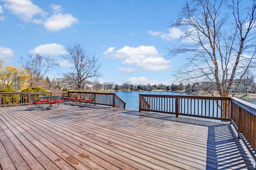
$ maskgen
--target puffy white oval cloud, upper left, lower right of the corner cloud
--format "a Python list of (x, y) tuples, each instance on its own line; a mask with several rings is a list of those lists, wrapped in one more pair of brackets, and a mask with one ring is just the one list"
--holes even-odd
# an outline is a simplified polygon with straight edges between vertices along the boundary
[(77, 21), (78, 19), (73, 17), (71, 14), (59, 13), (48, 18), (44, 23), (44, 27), (49, 31), (59, 31), (61, 29), (71, 27), (71, 25)]

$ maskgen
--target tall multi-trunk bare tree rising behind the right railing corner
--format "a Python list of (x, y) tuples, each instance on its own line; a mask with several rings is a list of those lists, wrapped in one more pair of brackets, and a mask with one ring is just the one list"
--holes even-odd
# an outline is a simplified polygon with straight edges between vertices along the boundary
[(181, 82), (212, 83), (220, 96), (228, 96), (235, 79), (239, 86), (245, 74), (254, 76), (256, 0), (242, 2), (186, 2), (173, 25), (183, 31), (182, 45), (170, 49), (170, 55), (187, 54), (188, 62), (175, 74)]

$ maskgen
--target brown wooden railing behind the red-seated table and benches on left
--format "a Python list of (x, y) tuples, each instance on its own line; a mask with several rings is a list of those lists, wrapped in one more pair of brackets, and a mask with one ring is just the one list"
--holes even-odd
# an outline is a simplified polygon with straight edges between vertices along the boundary
[(30, 105), (30, 96), (38, 99), (40, 95), (45, 96), (72, 96), (75, 98), (93, 99), (93, 104), (112, 106), (125, 109), (126, 103), (115, 93), (97, 92), (24, 92), (24, 93), (0, 93), (0, 107)]

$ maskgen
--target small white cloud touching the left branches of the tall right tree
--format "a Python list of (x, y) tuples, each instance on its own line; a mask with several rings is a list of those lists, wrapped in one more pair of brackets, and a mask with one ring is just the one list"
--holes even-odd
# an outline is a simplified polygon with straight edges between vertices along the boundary
[(152, 36), (161, 37), (164, 40), (171, 41), (174, 39), (179, 39), (182, 35), (182, 30), (176, 27), (168, 28), (168, 33), (160, 32), (160, 31), (148, 31), (148, 33)]

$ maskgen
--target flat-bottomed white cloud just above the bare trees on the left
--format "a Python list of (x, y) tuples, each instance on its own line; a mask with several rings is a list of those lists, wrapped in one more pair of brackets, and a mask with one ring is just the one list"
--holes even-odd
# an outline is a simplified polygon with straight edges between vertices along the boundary
[(38, 47), (28, 51), (31, 54), (39, 54), (43, 56), (58, 56), (60, 54), (66, 54), (66, 50), (63, 45), (52, 43), (39, 45)]

